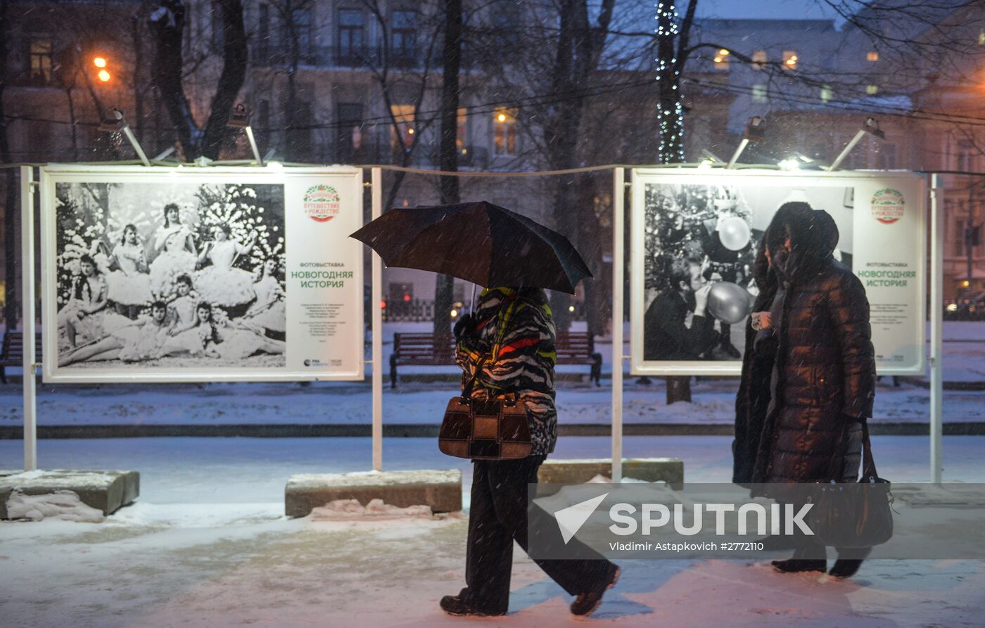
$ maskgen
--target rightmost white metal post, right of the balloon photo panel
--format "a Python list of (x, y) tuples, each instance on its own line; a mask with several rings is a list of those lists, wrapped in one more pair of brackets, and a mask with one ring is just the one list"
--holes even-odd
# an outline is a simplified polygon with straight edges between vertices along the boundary
[(943, 474), (941, 443), (944, 431), (944, 189), (941, 175), (930, 178), (930, 479)]

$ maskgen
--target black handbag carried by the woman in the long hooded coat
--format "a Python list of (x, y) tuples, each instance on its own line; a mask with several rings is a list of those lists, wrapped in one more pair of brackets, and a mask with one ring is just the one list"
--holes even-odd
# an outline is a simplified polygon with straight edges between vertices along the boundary
[[(833, 547), (873, 547), (892, 537), (892, 493), (889, 480), (876, 471), (869, 423), (862, 420), (862, 476), (854, 484), (829, 482), (815, 487), (807, 521), (815, 539)], [(839, 457), (835, 456), (836, 459)]]

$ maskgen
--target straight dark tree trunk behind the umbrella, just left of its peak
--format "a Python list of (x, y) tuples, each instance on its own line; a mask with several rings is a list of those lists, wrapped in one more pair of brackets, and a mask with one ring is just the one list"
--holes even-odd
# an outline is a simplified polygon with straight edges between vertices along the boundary
[[(438, 163), (441, 170), (458, 170), (458, 76), (462, 64), (462, 0), (444, 0), (444, 43), (441, 54), (441, 137), (438, 146)], [(459, 202), (458, 177), (442, 176), (439, 179), (441, 203)], [(434, 330), (435, 338), (447, 339), (437, 346), (451, 341), (451, 309), (455, 298), (455, 280), (438, 275), (434, 280)], [(461, 315), (461, 312), (459, 312)]]

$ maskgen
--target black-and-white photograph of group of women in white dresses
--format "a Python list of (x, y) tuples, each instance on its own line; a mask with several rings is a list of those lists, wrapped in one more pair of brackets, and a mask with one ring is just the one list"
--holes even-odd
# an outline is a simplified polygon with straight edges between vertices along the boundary
[(285, 364), (283, 184), (59, 182), (55, 214), (59, 368)]

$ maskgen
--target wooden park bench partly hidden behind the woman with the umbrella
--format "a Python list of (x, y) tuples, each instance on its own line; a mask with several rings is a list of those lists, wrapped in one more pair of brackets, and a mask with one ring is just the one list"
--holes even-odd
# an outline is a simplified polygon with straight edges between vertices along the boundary
[[(397, 387), (397, 366), (447, 366), (455, 363), (455, 340), (448, 336), (446, 343), (435, 345), (433, 334), (396, 333), (393, 353), (390, 354), (390, 388)], [(555, 341), (558, 366), (584, 364), (591, 366), (591, 379), (601, 386), (602, 354), (595, 350), (595, 339), (587, 332), (560, 333)]]

